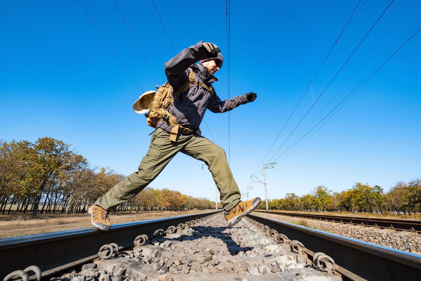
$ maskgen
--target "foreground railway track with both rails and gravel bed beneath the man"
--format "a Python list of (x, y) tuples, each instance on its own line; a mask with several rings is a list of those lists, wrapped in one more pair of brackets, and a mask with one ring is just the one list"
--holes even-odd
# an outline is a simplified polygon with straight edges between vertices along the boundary
[(416, 280), (421, 273), (418, 255), (253, 214), (227, 227), (218, 212), (0, 239), (0, 257), (1, 276), (21, 270), (11, 275), (24, 281)]

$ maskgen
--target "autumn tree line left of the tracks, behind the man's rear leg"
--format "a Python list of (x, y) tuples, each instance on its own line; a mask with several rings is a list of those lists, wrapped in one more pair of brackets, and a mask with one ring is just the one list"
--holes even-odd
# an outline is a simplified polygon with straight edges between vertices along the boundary
[[(0, 211), (26, 213), (85, 213), (120, 180), (109, 168), (88, 164), (83, 155), (51, 137), (4, 142), (0, 140)], [(6, 210), (6, 206), (8, 209)], [(179, 191), (147, 187), (113, 211), (213, 209), (215, 202)]]

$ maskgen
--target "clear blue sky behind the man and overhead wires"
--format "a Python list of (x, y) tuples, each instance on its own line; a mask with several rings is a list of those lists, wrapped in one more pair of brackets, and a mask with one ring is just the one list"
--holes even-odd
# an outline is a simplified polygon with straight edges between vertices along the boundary
[[(144, 91), (154, 89), (157, 81), (112, 0), (80, 2), (140, 87)], [(312, 83), (314, 100), (389, 2), (361, 1), (357, 11), (364, 5)], [(158, 80), (164, 83), (163, 63), (174, 52), (152, 1), (116, 3)], [(242, 192), (357, 3), (231, 1), (231, 96), (254, 91), (258, 98), (230, 113), (230, 149), (228, 114), (208, 111), (205, 119), (216, 144), (230, 152), (234, 178)], [(389, 6), (274, 158), (338, 93), (412, 3), (394, 1)], [(212, 5), (196, 1), (182, 7), (177, 1), (156, 0), (155, 4), (177, 52), (204, 40), (219, 45), (227, 58), (225, 1), (213, 1)], [(51, 136), (72, 144), (93, 166), (109, 166), (126, 175), (135, 171), (153, 130), (131, 108), (141, 90), (77, 1), (4, 1), (1, 5), (0, 138), (35, 141)], [(392, 52), (421, 27), (419, 11), (418, 0), (316, 123), (352, 91), (410, 27), (415, 24)], [(340, 191), (354, 182), (388, 190), (398, 180), (421, 177), (420, 45), (421, 32), (308, 141), (287, 158), (288, 153), (277, 159), (276, 168), (266, 175), (269, 198), (290, 192), (303, 195), (317, 185)], [(219, 81), (214, 84), (221, 99), (228, 97), (227, 65), (225, 60), (216, 74)], [(311, 91), (307, 91), (264, 163), (311, 106)], [(204, 123), (201, 130), (210, 138)], [(180, 153), (150, 186), (214, 199), (212, 177), (200, 164)], [(260, 173), (256, 176), (263, 180)], [(254, 183), (250, 196), (264, 198), (263, 185)]]

